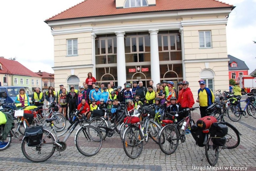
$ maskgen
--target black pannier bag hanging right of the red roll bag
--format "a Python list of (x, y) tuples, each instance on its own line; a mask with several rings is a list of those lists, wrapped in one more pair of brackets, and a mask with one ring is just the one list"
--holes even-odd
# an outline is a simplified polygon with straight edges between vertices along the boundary
[(226, 143), (227, 125), (223, 122), (215, 122), (210, 128), (210, 137), (215, 146), (224, 146)]

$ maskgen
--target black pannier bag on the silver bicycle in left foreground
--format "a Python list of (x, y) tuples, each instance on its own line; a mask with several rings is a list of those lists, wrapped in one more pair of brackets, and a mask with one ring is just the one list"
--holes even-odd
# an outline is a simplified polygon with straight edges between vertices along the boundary
[(41, 144), (43, 138), (43, 127), (27, 127), (25, 129), (26, 142), (29, 147), (38, 146)]

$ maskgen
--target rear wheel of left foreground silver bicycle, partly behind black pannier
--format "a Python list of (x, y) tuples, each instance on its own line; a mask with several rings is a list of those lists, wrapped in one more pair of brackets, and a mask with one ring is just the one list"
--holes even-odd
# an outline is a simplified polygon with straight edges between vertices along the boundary
[[(21, 151), (30, 161), (43, 162), (49, 159), (55, 152), (55, 138), (48, 130), (44, 129), (42, 143), (39, 146), (27, 146), (26, 137), (23, 137)], [(43, 150), (43, 153), (42, 153)]]

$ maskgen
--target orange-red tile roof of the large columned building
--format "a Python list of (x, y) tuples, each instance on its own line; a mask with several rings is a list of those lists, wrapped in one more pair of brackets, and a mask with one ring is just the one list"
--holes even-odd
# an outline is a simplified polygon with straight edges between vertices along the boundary
[(134, 8), (116, 8), (115, 0), (85, 0), (47, 19), (46, 22), (62, 19), (109, 16), (127, 13), (145, 13), (227, 7), (230, 8), (233, 7), (233, 5), (226, 4), (217, 0), (156, 0), (155, 6)]

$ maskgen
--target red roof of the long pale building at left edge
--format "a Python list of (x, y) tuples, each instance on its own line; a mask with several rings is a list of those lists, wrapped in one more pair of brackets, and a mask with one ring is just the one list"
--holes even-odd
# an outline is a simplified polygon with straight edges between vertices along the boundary
[(40, 77), (39, 75), (32, 72), (28, 68), (24, 67), (18, 61), (0, 58), (0, 63), (2, 64), (2, 70), (0, 70), (0, 73), (3, 73), (3, 74), (9, 73), (9, 74), (13, 74), (13, 75)]

